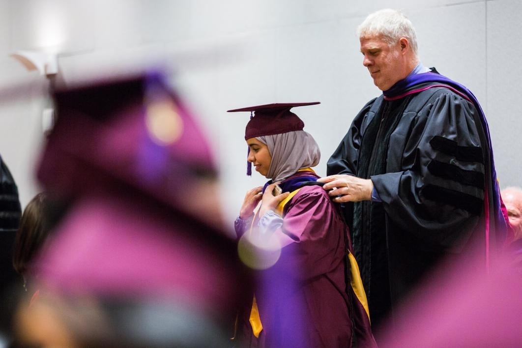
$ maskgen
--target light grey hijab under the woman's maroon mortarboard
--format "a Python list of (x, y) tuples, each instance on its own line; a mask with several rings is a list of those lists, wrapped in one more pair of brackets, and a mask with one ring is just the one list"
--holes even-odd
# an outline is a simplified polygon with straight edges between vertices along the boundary
[(272, 156), (267, 178), (282, 181), (300, 169), (319, 164), (321, 151), (314, 138), (304, 130), (257, 137)]

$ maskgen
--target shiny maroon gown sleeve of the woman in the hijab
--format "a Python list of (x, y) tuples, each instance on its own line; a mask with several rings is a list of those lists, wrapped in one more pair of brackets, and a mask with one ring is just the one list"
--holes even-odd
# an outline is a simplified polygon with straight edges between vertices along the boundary
[(321, 187), (301, 191), (288, 203), (283, 224), (273, 233), (283, 245), (279, 271), (306, 280), (330, 272), (344, 260), (347, 227)]

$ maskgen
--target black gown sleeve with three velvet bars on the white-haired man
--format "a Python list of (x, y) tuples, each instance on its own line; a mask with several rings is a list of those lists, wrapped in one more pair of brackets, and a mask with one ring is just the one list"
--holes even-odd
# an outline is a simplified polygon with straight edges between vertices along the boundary
[[(394, 224), (454, 251), (467, 241), (483, 209), (484, 160), (476, 113), (458, 95), (440, 95), (404, 130), (409, 138), (398, 170), (371, 177)], [(391, 139), (389, 153), (393, 146)]]

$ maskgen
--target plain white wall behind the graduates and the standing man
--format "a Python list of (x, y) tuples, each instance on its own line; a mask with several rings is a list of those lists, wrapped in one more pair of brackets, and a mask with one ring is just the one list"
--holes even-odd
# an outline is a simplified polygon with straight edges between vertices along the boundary
[(22, 205), (38, 190), (33, 165), (42, 141), (41, 110), (49, 101), (42, 97), (45, 79), (28, 73), (9, 52), (55, 47), (67, 82), (158, 61), (175, 68), (174, 81), (216, 151), (232, 220), (246, 189), (266, 179), (244, 175), (248, 115), (226, 110), (321, 101), (294, 111), (322, 149), (317, 172), (324, 175), (354, 115), (379, 94), (362, 66), (354, 32), (367, 14), (383, 7), (410, 17), (424, 65), (476, 94), (490, 123), (501, 186), (522, 185), (520, 0), (3, 0), (0, 92), (29, 86), (17, 98), (0, 93), (0, 154)]

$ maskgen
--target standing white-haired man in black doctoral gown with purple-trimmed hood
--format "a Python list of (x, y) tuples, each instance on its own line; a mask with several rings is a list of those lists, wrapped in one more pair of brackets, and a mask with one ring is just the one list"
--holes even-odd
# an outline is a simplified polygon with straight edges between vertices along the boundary
[(376, 329), (441, 258), (477, 246), (488, 264), (506, 221), (474, 95), (420, 63), (399, 11), (371, 14), (358, 34), (383, 94), (355, 116), (319, 181), (343, 203)]

